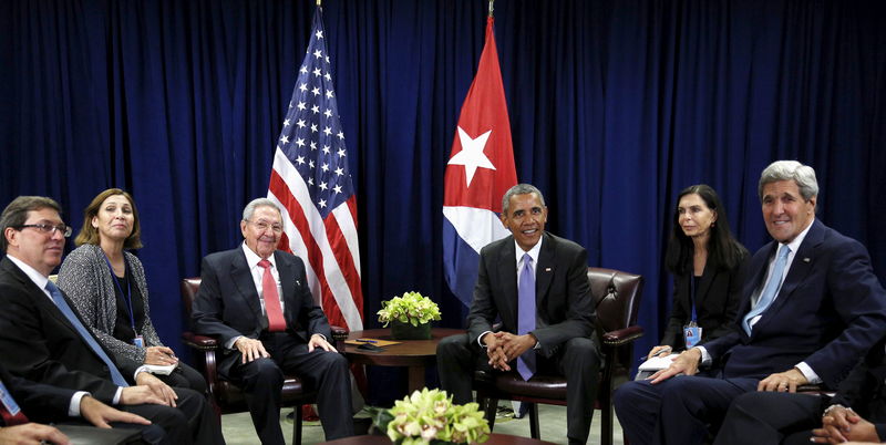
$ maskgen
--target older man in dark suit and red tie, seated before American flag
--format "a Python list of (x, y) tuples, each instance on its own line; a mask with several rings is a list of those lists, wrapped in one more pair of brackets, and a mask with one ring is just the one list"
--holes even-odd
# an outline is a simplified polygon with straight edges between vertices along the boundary
[(246, 391), (262, 444), (284, 443), (285, 372), (318, 389), (327, 439), (353, 435), (348, 361), (329, 343), (329, 322), (308, 288), (305, 263), (277, 250), (279, 207), (270, 199), (253, 200), (244, 209), (240, 231), (243, 245), (203, 259), (194, 330), (225, 345), (218, 372)]

